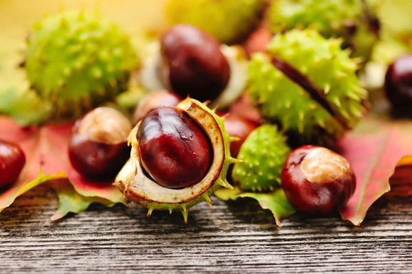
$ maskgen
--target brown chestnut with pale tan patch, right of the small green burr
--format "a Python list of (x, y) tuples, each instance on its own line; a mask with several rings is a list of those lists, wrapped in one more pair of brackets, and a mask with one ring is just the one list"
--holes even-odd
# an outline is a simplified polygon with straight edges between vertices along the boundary
[(356, 178), (341, 155), (320, 146), (301, 146), (286, 159), (281, 174), (288, 201), (300, 212), (330, 214), (354, 194)]

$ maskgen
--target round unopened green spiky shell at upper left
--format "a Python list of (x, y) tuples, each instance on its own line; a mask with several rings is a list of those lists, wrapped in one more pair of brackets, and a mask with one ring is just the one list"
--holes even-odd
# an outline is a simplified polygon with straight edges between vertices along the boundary
[(84, 12), (62, 12), (34, 24), (25, 71), (56, 117), (77, 117), (124, 91), (138, 61), (117, 25)]

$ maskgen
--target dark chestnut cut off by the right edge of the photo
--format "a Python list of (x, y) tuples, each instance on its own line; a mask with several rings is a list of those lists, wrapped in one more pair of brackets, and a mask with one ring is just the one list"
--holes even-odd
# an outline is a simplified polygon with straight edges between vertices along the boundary
[(385, 91), (395, 113), (412, 115), (412, 54), (401, 56), (389, 65)]

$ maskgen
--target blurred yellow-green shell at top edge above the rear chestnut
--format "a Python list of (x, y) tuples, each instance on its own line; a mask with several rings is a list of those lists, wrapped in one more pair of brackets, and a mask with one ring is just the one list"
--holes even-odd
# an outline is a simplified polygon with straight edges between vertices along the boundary
[(168, 0), (170, 24), (188, 23), (225, 44), (242, 42), (258, 25), (267, 0)]

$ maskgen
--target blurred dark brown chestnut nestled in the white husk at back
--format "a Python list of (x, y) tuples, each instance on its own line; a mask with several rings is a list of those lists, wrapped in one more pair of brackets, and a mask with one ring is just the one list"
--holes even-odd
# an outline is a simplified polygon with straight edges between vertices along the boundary
[(212, 36), (192, 25), (175, 25), (161, 38), (163, 76), (182, 98), (214, 100), (229, 82), (229, 62)]

